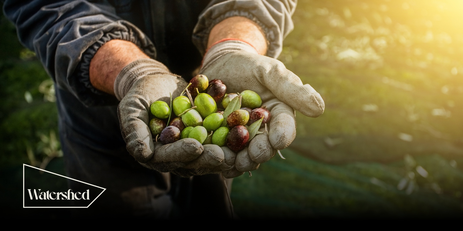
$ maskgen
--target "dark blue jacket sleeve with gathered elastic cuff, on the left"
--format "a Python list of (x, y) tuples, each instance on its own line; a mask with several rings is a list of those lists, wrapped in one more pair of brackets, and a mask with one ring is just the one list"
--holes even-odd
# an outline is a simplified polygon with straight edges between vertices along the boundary
[(57, 87), (71, 92), (86, 106), (117, 103), (96, 90), (88, 67), (96, 51), (111, 39), (131, 41), (154, 58), (150, 40), (135, 25), (121, 20), (106, 1), (5, 0), (3, 10), (19, 41), (35, 51)]

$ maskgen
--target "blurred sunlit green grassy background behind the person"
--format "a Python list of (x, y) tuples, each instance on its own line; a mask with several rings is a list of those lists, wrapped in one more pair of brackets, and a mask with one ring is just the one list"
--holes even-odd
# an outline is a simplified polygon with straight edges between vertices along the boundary
[[(235, 178), (244, 219), (460, 218), (463, 1), (300, 0), (279, 59), (325, 100), (297, 137)], [(0, 166), (63, 174), (52, 82), (0, 21)]]

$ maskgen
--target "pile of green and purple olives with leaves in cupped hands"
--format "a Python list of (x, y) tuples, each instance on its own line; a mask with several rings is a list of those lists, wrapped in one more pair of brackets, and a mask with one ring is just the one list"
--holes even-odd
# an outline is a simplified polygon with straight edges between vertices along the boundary
[[(227, 94), (226, 89), (221, 80), (209, 81), (200, 74), (190, 80), (181, 96), (171, 100), (171, 108), (163, 101), (152, 103), (154, 118), (149, 127), (156, 142), (170, 144), (193, 138), (203, 145), (228, 146), (235, 152), (244, 149), (262, 133), (259, 128), (269, 123), (270, 112), (261, 107), (262, 99), (256, 92)], [(172, 116), (175, 118), (170, 120)]]

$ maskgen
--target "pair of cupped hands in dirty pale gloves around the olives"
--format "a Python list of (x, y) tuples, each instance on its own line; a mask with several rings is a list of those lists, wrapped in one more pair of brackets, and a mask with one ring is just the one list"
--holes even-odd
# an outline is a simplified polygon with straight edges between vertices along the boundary
[[(242, 151), (213, 144), (201, 145), (187, 138), (163, 145), (153, 141), (148, 123), (150, 105), (157, 100), (170, 103), (188, 83), (154, 60), (134, 62), (121, 74), (138, 74), (143, 66), (156, 68), (136, 80), (119, 103), (118, 115), (128, 152), (143, 166), (179, 176), (221, 173), (225, 178), (256, 170), (259, 164), (288, 147), (296, 136), (294, 109), (305, 116), (317, 117), (325, 109), (323, 99), (312, 86), (286, 69), (281, 61), (246, 49), (239, 41), (227, 41), (231, 49), (209, 50), (200, 69), (208, 79), (220, 79), (227, 93), (252, 90), (262, 98), (272, 116), (267, 130), (257, 134)], [(237, 45), (237, 46), (235, 46)], [(244, 49), (241, 49), (244, 48)], [(211, 53), (213, 52), (213, 53)], [(141, 66), (142, 68), (138, 68)], [(143, 71), (142, 71), (143, 72)]]

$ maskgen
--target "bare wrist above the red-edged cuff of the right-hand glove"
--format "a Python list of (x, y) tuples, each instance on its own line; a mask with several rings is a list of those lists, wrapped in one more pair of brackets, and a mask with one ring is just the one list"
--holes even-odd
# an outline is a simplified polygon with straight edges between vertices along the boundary
[(249, 18), (235, 16), (216, 24), (209, 34), (207, 48), (225, 38), (245, 41), (256, 48), (259, 54), (265, 55), (267, 53), (267, 39), (263, 30)]

